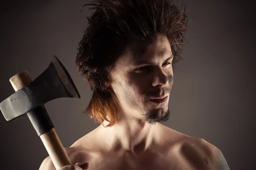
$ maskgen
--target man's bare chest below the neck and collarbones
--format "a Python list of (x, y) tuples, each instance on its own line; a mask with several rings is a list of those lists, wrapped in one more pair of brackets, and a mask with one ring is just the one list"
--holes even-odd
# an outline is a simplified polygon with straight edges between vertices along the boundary
[[(105, 144), (82, 141), (76, 146), (79, 149), (74, 152), (74, 163), (88, 162), (88, 170), (213, 170), (212, 160), (194, 138), (176, 133), (168, 136), (170, 139), (163, 138), (143, 154), (115, 148), (106, 150)], [(85, 148), (84, 143), (91, 145)]]

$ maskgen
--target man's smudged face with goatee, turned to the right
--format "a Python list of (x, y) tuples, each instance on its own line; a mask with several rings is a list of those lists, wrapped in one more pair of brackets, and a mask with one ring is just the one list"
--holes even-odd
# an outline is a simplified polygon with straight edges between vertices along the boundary
[[(143, 118), (148, 123), (169, 119), (169, 95), (173, 84), (172, 51), (165, 36), (158, 35), (135, 56), (131, 48), (119, 57), (106, 85), (113, 88), (119, 107), (128, 116)], [(165, 101), (151, 100), (165, 98)]]

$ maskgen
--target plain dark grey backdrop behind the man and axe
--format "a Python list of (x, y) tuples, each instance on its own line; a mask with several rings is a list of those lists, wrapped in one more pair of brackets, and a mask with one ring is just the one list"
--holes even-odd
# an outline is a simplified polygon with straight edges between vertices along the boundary
[[(92, 92), (75, 68), (76, 46), (87, 26), (86, 0), (2, 2), (0, 10), (0, 101), (14, 90), (9, 78), (28, 70), (40, 75), (56, 55), (81, 99), (61, 98), (45, 106), (64, 147), (97, 124), (81, 115)], [(256, 169), (255, 6), (253, 1), (184, 0), (191, 42), (177, 64), (166, 123), (217, 146), (231, 170)], [(7, 122), (0, 115), (0, 169), (36, 170), (48, 156), (27, 116)]]

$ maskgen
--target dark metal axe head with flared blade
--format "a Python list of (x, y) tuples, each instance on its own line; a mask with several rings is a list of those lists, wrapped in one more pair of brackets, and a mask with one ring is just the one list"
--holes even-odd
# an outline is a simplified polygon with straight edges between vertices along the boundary
[(41, 75), (0, 103), (0, 110), (6, 121), (13, 121), (56, 98), (80, 98), (80, 95), (67, 69), (54, 55)]

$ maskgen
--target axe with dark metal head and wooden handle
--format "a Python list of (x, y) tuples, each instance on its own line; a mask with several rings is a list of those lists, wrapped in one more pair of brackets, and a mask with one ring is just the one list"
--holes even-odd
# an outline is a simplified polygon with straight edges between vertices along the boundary
[(9, 79), (15, 93), (0, 103), (6, 121), (28, 115), (56, 170), (71, 164), (44, 104), (56, 98), (80, 98), (69, 73), (54, 55), (48, 68), (34, 81), (25, 70)]

